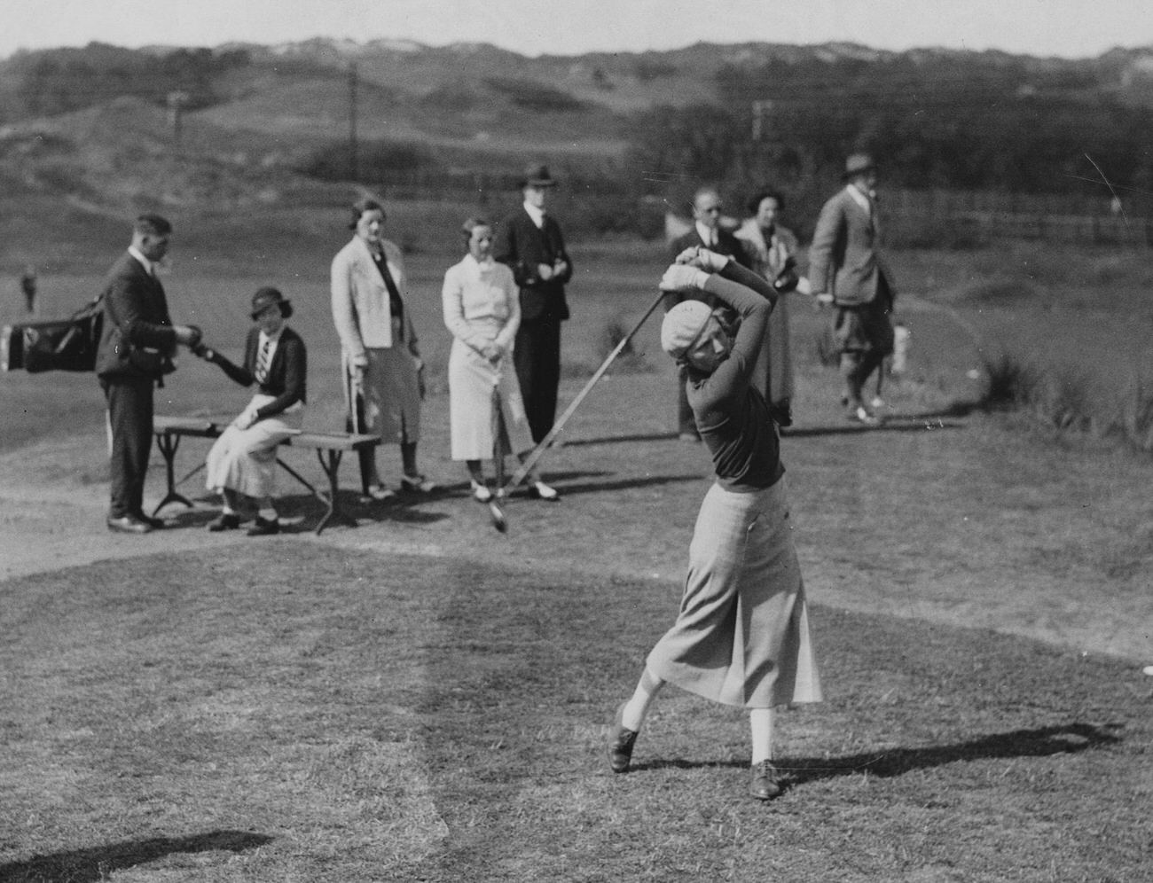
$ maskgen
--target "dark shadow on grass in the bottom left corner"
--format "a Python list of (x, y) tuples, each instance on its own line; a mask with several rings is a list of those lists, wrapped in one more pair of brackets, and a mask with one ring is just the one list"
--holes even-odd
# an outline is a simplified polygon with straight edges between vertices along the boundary
[(5, 883), (90, 883), (107, 880), (115, 870), (133, 868), (178, 852), (244, 852), (271, 842), (272, 838), (267, 835), (250, 831), (210, 831), (188, 837), (126, 840), (0, 865), (0, 880)]

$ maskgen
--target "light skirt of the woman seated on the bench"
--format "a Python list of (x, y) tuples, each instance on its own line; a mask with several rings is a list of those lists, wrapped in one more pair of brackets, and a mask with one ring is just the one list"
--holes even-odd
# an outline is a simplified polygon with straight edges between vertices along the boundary
[[(250, 408), (272, 401), (254, 395)], [(257, 421), (248, 429), (228, 427), (209, 451), (205, 485), (210, 491), (228, 488), (256, 499), (271, 497), (277, 485), (277, 445), (300, 432), (304, 409)]]

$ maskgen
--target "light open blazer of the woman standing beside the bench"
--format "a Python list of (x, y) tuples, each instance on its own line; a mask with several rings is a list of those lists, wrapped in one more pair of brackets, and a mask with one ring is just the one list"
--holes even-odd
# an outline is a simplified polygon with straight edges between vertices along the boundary
[[(384, 259), (397, 284), (401, 299), (405, 296), (405, 261), (400, 249), (387, 240), (382, 241)], [(332, 258), (332, 322), (340, 337), (340, 349), (347, 362), (364, 355), (366, 348), (387, 349), (392, 339), (392, 305), (389, 289), (376, 269), (368, 243), (353, 236)], [(404, 338), (408, 350), (416, 357), (416, 331), (409, 311), (405, 310)]]

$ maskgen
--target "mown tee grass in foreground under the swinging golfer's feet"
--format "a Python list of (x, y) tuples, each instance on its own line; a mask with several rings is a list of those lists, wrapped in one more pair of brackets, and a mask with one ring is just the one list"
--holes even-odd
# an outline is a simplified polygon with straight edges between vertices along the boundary
[(817, 609), (827, 703), (783, 717), (770, 806), (744, 716), (685, 694), (613, 776), (673, 595), (293, 541), (9, 583), (0, 880), (1148, 870), (1140, 676), (990, 632)]

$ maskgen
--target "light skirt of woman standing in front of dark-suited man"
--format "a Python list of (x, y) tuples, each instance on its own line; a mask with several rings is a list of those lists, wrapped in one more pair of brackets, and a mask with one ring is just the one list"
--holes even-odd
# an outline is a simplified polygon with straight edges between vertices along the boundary
[(533, 447), (528, 415), (512, 354), (493, 367), (467, 344), (453, 340), (449, 354), (449, 415), (453, 460), (488, 460), (492, 456), (492, 390), (500, 397), (500, 415), (513, 452)]

